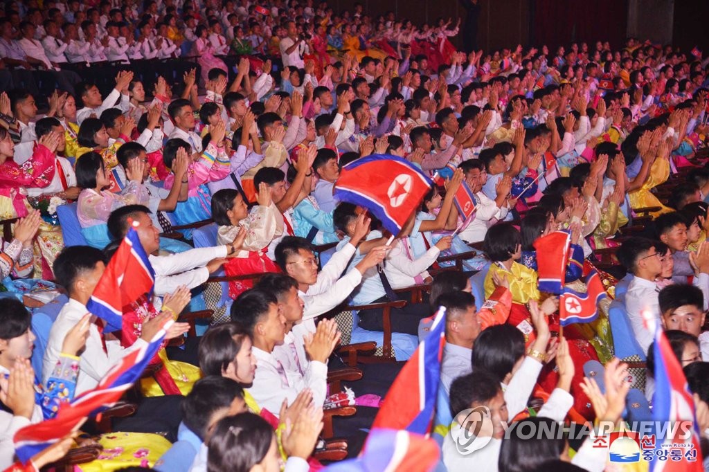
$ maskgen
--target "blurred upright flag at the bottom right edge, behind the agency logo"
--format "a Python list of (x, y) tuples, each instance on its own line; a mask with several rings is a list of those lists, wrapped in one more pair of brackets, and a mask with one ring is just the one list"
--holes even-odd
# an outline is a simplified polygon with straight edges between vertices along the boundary
[[(682, 371), (679, 360), (672, 352), (672, 347), (664, 334), (664, 330), (654, 315), (646, 310), (643, 315), (645, 327), (654, 330), (655, 342), (653, 354), (655, 359), (655, 391), (652, 395), (652, 419), (655, 424), (679, 424), (692, 422), (689, 434), (681, 427), (666, 428), (664, 437), (657, 437), (654, 442), (654, 460), (650, 463), (651, 471), (662, 472), (700, 472), (703, 471), (702, 450), (699, 445), (698, 424), (694, 411), (694, 400), (687, 386), (687, 379)], [(674, 434), (672, 434), (674, 433)], [(672, 447), (673, 444), (679, 446)], [(679, 460), (661, 461), (659, 456), (667, 457), (667, 452), (679, 449)]]

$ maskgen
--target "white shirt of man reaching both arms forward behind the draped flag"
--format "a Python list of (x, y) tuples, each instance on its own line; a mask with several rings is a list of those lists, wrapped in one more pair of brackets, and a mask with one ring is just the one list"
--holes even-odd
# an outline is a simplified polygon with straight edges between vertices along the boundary
[(155, 295), (167, 295), (183, 285), (187, 288), (200, 286), (209, 278), (207, 263), (226, 257), (226, 254), (226, 246), (200, 247), (169, 256), (150, 254), (148, 259), (155, 271)]

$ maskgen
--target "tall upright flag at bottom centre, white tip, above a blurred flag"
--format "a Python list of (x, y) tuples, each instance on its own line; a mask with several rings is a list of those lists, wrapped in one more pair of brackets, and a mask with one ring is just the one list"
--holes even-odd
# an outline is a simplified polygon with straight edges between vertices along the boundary
[[(418, 344), (394, 379), (372, 424), (428, 435), (438, 395), (445, 344), (445, 308), (438, 308), (428, 336)], [(367, 441), (369, 443), (369, 440)]]

